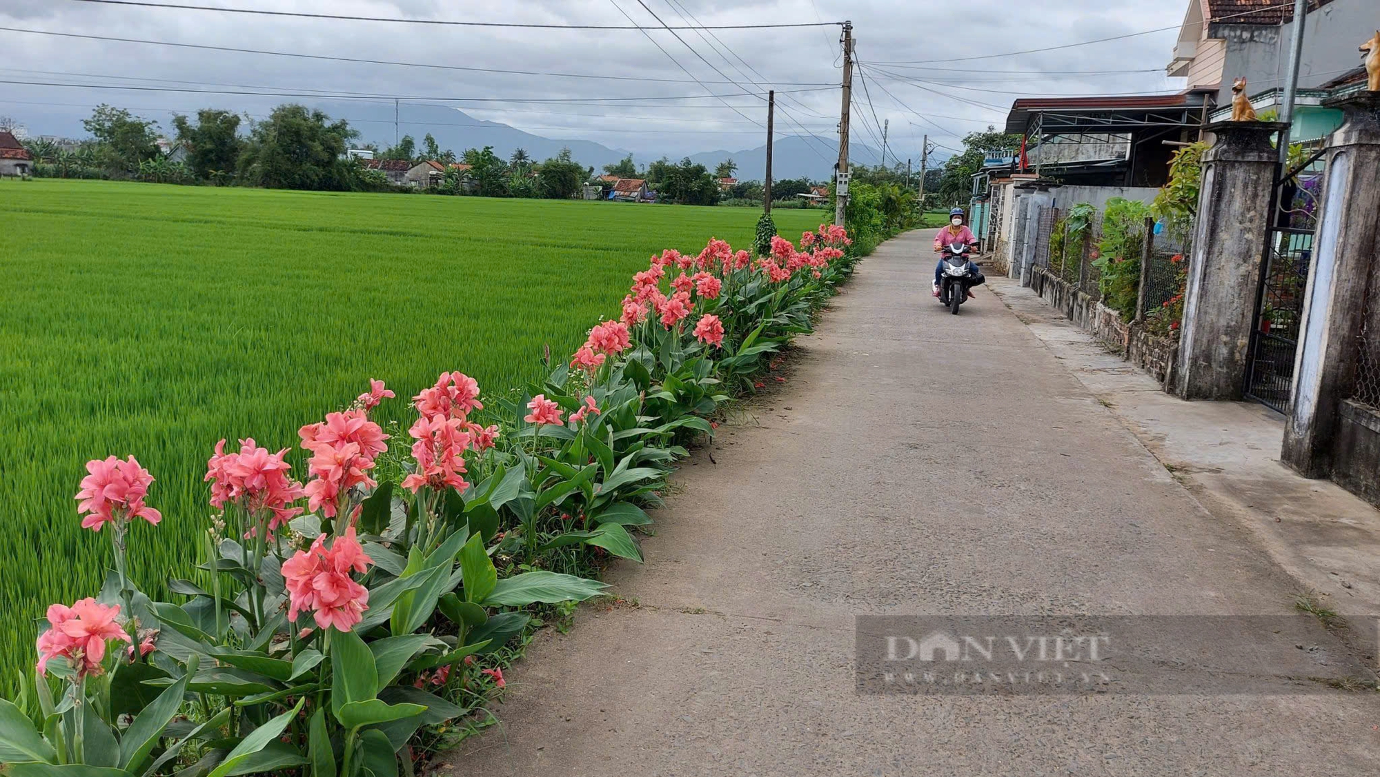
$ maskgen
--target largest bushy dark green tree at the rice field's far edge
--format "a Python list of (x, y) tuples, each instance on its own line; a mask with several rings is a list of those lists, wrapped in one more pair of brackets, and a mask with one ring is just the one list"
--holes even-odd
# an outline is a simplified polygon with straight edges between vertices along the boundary
[(345, 120), (287, 103), (254, 125), (240, 154), (240, 180), (268, 189), (362, 189), (359, 165), (342, 160), (359, 132)]

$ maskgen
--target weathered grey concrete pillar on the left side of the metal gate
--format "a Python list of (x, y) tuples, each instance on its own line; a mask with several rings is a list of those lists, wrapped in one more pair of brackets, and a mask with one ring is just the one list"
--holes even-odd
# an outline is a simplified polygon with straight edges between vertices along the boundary
[(1279, 164), (1270, 138), (1289, 125), (1219, 121), (1205, 130), (1216, 139), (1203, 154), (1174, 394), (1239, 400)]

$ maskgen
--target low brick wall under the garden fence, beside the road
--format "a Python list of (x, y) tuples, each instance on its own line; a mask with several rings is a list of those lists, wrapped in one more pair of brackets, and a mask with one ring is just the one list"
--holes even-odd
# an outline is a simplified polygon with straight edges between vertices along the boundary
[(1141, 327), (1126, 324), (1119, 313), (1049, 274), (1045, 267), (1035, 267), (1031, 289), (1081, 329), (1121, 350), (1123, 358), (1148, 372), (1161, 386), (1173, 380), (1177, 338), (1156, 338)]

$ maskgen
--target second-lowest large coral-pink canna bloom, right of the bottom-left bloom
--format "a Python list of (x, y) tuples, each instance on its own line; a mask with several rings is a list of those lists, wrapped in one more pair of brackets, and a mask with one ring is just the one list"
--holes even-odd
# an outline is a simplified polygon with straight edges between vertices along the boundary
[(326, 547), (326, 535), (316, 537), (312, 547), (283, 562), (283, 581), (287, 586), (287, 620), (310, 610), (316, 625), (349, 631), (368, 609), (368, 590), (351, 579), (351, 572), (366, 572), (374, 559), (364, 554), (355, 528), (335, 537)]

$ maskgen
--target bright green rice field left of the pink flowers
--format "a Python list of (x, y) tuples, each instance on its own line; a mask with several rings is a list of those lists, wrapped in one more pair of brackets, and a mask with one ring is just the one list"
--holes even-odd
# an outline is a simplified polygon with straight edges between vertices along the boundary
[[(822, 215), (774, 214), (792, 238)], [(0, 696), (32, 670), (44, 608), (97, 594), (110, 563), (72, 499), (88, 459), (134, 455), (157, 478), (164, 521), (131, 537), (157, 591), (196, 557), (217, 439), (293, 446), (370, 377), (399, 395), (382, 422), (447, 369), (501, 394), (540, 373), (542, 346), (569, 354), (617, 314), (653, 252), (748, 247), (756, 218), (0, 179)]]

